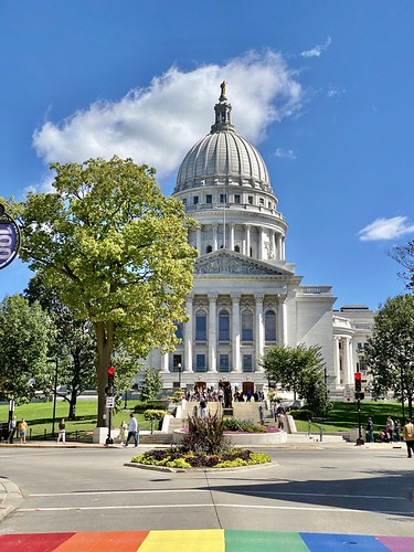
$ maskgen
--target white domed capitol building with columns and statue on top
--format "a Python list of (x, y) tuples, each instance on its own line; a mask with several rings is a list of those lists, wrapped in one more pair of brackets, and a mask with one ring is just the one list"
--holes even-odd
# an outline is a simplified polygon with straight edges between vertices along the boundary
[(190, 244), (199, 252), (189, 321), (177, 329), (176, 351), (153, 350), (146, 363), (161, 370), (164, 389), (220, 380), (247, 392), (267, 391), (259, 359), (270, 346), (320, 346), (331, 395), (353, 386), (358, 351), (371, 333), (374, 314), (364, 306), (333, 310), (332, 287), (302, 285), (286, 261), (288, 224), (278, 210), (266, 164), (232, 125), (232, 105), (221, 85), (210, 134), (187, 153), (173, 197), (199, 229)]

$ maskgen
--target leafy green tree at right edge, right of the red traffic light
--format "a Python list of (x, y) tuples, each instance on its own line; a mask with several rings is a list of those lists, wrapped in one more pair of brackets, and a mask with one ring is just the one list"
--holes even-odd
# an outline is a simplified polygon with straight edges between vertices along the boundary
[(414, 296), (388, 299), (375, 316), (372, 336), (364, 349), (372, 372), (372, 391), (378, 397), (393, 391), (408, 401), (410, 417), (414, 397)]

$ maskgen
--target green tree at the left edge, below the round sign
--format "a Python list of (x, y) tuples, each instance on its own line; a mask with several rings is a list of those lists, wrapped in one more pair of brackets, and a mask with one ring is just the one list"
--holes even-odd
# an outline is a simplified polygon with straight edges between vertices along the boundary
[(29, 402), (35, 391), (50, 390), (53, 367), (47, 363), (54, 326), (39, 305), (20, 295), (0, 302), (1, 395), (18, 404)]

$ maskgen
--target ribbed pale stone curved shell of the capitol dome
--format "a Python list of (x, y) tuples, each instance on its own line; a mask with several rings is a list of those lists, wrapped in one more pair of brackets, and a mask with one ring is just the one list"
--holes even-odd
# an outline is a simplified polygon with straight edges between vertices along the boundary
[(219, 182), (272, 192), (261, 153), (235, 131), (212, 132), (199, 140), (181, 163), (174, 192)]

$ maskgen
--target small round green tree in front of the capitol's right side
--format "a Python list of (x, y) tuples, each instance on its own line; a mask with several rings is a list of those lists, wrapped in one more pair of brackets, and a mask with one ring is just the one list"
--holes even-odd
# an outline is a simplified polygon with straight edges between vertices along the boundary
[(323, 416), (328, 413), (325, 361), (320, 347), (306, 347), (304, 343), (298, 347), (269, 347), (261, 364), (272, 386), (293, 391), (294, 399), (304, 399), (307, 407), (316, 415)]

